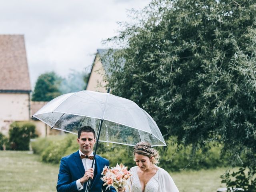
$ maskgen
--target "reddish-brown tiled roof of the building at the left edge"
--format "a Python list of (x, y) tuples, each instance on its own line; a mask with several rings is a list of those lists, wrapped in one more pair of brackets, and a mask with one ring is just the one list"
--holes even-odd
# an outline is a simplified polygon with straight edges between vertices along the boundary
[(30, 91), (23, 35), (0, 35), (0, 91)]

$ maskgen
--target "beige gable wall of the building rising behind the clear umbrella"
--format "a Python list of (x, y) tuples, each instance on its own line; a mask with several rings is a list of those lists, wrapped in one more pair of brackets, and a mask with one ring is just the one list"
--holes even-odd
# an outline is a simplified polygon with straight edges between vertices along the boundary
[(96, 56), (86, 90), (106, 93), (107, 89), (105, 88), (105, 85), (107, 83), (103, 80), (104, 75), (105, 70), (100, 58), (99, 56)]

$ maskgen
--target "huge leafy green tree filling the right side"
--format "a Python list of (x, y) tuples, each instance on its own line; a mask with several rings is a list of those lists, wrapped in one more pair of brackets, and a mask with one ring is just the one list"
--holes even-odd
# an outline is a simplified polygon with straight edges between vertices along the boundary
[[(256, 1), (153, 0), (124, 24), (108, 86), (156, 120), (165, 138), (233, 163), (256, 158)], [(114, 50), (114, 48), (118, 50)]]

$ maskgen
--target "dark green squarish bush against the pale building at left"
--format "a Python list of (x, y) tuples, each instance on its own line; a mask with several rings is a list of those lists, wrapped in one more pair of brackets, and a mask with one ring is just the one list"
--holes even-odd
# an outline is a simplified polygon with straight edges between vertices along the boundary
[(31, 122), (13, 122), (9, 130), (10, 150), (29, 150), (30, 138), (35, 138), (36, 126)]

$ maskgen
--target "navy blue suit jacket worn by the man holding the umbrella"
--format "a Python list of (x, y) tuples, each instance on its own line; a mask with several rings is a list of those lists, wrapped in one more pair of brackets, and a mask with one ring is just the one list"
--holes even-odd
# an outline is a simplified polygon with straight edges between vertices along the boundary
[[(102, 158), (101, 156), (95, 156), (95, 168), (94, 176), (90, 186), (90, 192), (116, 192), (116, 190), (111, 187), (106, 190), (106, 186), (103, 186), (104, 182), (100, 179), (101, 172), (104, 166), (108, 166), (109, 162), (107, 159)], [(62, 157), (60, 160), (60, 171), (58, 174), (58, 183), (57, 191), (58, 192), (78, 192), (76, 187), (76, 180), (84, 176), (85, 170), (80, 159), (79, 150), (75, 153), (72, 153), (68, 156)], [(86, 182), (84, 183), (84, 189), (80, 192), (84, 192), (86, 189)]]

